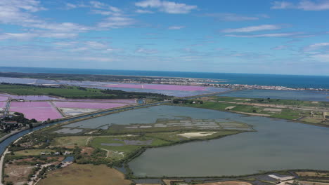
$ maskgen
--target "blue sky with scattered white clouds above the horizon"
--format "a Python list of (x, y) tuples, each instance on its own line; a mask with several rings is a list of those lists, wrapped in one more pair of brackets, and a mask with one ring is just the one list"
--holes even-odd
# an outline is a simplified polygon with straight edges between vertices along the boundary
[(0, 1), (0, 66), (329, 75), (329, 0)]

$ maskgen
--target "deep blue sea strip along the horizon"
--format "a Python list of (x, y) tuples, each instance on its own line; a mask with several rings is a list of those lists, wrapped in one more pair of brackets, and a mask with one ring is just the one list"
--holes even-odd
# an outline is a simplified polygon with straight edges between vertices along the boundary
[(224, 84), (274, 85), (288, 88), (327, 88), (328, 76), (283, 75), (283, 74), (235, 74), (180, 71), (132, 71), (112, 69), (65, 69), (41, 67), (0, 67), (0, 72), (49, 73), (49, 74), (105, 74), (129, 76), (166, 76), (183, 78), (211, 78)]

